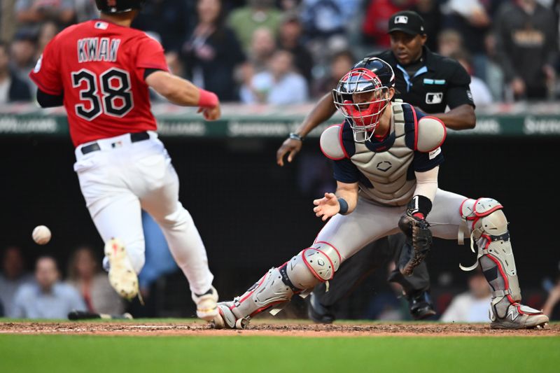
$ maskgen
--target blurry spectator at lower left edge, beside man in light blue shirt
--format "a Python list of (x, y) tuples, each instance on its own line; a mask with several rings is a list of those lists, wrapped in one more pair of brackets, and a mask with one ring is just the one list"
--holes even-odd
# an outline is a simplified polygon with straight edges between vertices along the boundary
[(22, 250), (18, 246), (9, 246), (2, 255), (2, 273), (0, 274), (0, 303), (4, 315), (12, 314), (14, 295), (20, 286), (33, 283), (33, 275), (25, 270)]

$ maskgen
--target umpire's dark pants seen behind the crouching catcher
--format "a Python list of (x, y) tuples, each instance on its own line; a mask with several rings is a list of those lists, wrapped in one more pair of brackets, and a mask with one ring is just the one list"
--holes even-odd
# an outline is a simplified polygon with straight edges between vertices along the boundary
[[(323, 306), (330, 307), (355, 290), (358, 285), (375, 269), (395, 260), (397, 263), (406, 244), (405, 234), (398, 233), (372, 242), (340, 265), (335, 277), (329, 281), (329, 290), (325, 293), (325, 283), (320, 283), (313, 290), (314, 295)], [(392, 275), (392, 276), (391, 276)], [(392, 274), (392, 281), (400, 283), (407, 295), (414, 295), (430, 288), (430, 276), (426, 262), (414, 268), (412, 276), (402, 276), (397, 269)]]

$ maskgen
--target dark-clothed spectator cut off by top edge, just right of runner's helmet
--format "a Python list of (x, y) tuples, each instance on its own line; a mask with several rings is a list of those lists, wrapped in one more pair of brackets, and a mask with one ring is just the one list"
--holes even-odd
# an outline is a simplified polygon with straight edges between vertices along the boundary
[(157, 35), (166, 55), (180, 53), (196, 22), (195, 1), (153, 0), (132, 22), (132, 27)]

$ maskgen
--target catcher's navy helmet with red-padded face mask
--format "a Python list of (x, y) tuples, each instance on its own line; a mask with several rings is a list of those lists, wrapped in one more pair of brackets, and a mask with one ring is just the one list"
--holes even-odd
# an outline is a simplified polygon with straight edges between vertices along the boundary
[(389, 88), (394, 87), (393, 68), (377, 57), (358, 62), (339, 80), (332, 97), (338, 111), (349, 119), (354, 140), (371, 139), (381, 114), (391, 101)]

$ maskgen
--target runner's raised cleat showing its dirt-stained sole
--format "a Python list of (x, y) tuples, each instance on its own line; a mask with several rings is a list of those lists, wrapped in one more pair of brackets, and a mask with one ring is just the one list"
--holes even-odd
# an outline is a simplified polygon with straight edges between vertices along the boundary
[(139, 295), (138, 276), (132, 268), (123, 242), (120, 239), (107, 241), (105, 256), (109, 260), (109, 283), (118, 295), (127, 300)]

